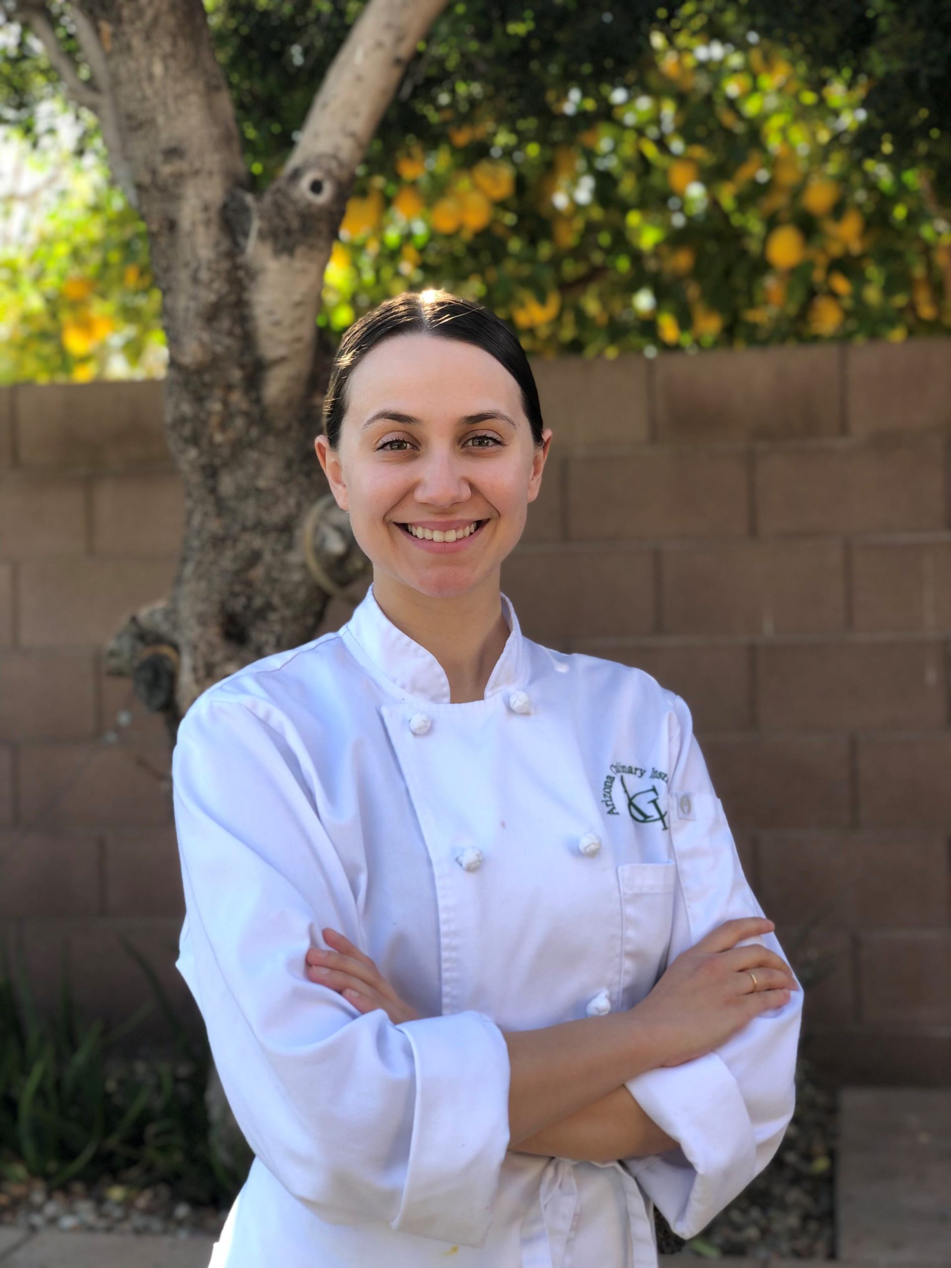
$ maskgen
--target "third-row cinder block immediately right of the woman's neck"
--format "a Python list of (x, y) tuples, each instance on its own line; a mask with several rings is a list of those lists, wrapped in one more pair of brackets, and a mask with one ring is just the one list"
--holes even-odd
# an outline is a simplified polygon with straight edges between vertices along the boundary
[(650, 550), (517, 548), (502, 563), (502, 590), (515, 604), (525, 635), (548, 647), (656, 628)]

